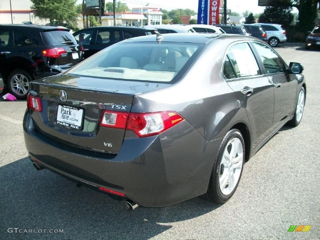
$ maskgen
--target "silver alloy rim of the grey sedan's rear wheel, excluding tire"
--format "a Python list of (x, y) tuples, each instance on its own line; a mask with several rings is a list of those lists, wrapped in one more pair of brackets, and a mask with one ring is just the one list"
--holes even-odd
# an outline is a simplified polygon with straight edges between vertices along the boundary
[(237, 186), (243, 164), (243, 146), (239, 138), (229, 140), (224, 149), (219, 175), (220, 191), (223, 195), (230, 194)]

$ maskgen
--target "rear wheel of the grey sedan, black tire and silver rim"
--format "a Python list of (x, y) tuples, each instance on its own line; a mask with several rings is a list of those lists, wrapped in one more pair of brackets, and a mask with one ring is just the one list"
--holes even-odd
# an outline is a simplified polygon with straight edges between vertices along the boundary
[(244, 139), (238, 129), (230, 130), (220, 145), (213, 165), (209, 186), (203, 198), (225, 203), (235, 193), (244, 166)]

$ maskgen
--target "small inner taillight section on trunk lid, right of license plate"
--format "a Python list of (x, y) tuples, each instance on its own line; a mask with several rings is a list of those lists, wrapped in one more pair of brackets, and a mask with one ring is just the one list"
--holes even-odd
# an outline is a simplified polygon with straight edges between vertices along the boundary
[(128, 112), (104, 111), (100, 121), (102, 127), (125, 129), (127, 125)]

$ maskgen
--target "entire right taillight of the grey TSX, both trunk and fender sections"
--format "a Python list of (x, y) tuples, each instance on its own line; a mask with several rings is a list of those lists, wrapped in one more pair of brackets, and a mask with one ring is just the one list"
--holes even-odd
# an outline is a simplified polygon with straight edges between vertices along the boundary
[(183, 120), (182, 116), (173, 111), (127, 113), (107, 110), (102, 114), (100, 126), (131, 130), (142, 138), (160, 134)]

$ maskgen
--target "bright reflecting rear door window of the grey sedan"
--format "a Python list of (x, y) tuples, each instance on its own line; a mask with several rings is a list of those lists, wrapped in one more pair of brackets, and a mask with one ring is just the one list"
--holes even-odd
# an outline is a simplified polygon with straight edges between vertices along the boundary
[(260, 75), (258, 63), (247, 43), (231, 46), (227, 56), (235, 70), (236, 77)]

